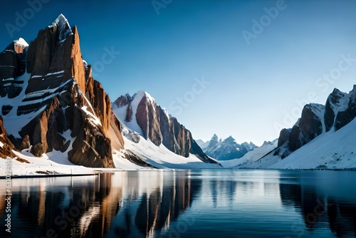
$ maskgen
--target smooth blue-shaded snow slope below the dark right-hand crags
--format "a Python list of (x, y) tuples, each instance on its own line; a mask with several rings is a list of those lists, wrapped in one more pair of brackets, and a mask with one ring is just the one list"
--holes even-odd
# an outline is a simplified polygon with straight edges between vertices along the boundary
[(319, 135), (268, 168), (313, 169), (356, 167), (356, 119), (340, 130)]

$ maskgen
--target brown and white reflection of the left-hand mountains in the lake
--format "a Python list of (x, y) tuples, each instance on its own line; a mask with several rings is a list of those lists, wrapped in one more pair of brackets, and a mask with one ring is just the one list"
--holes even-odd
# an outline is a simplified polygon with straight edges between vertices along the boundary
[[(14, 180), (13, 237), (153, 237), (200, 192), (187, 172)], [(73, 181), (75, 180), (75, 181)], [(4, 205), (1, 205), (4, 220)], [(31, 227), (23, 230), (21, 227)], [(1, 231), (2, 232), (2, 231)]]

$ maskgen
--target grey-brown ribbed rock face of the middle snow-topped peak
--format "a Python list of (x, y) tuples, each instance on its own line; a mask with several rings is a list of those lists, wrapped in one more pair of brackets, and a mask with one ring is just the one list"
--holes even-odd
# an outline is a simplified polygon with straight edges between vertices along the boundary
[(216, 163), (201, 150), (192, 138), (192, 133), (177, 118), (168, 115), (145, 91), (132, 96), (122, 95), (113, 105), (117, 117), (125, 121), (128, 128), (155, 145), (164, 145), (177, 155), (188, 157), (192, 153), (203, 162)]

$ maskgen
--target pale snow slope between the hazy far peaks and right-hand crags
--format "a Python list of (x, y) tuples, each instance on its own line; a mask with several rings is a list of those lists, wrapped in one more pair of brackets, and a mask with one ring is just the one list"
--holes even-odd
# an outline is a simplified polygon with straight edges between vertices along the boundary
[(275, 149), (277, 147), (277, 143), (278, 139), (273, 140), (272, 142), (265, 142), (263, 143), (263, 145), (261, 145), (261, 147), (248, 151), (246, 155), (239, 159), (225, 160), (219, 162), (224, 167), (246, 167), (248, 165), (251, 165), (253, 162), (256, 162), (256, 160), (259, 160), (261, 157), (267, 155), (268, 152), (271, 152), (273, 149)]

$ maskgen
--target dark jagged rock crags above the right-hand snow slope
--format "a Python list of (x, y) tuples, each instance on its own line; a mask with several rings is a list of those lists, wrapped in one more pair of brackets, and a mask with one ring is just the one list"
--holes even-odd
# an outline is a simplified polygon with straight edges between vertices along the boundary
[(282, 159), (298, 150), (322, 133), (340, 130), (356, 117), (356, 86), (350, 93), (342, 93), (335, 88), (325, 105), (310, 103), (305, 105), (297, 123), (290, 129), (281, 130), (278, 148), (273, 155)]

